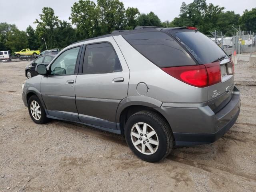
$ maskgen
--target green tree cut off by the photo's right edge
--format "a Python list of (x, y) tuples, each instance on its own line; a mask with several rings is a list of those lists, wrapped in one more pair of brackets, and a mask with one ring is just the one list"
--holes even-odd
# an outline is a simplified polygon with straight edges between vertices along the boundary
[(244, 11), (244, 14), (239, 18), (239, 24), (242, 25), (242, 30), (256, 32), (256, 8)]

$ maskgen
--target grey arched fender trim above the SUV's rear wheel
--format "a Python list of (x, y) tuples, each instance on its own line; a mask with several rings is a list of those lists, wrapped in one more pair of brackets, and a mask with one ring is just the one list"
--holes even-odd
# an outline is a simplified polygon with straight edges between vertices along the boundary
[(118, 105), (116, 111), (116, 123), (120, 123), (120, 115), (122, 111), (132, 105), (141, 105), (151, 108), (160, 108), (162, 106), (162, 102), (147, 96), (129, 96), (124, 98)]

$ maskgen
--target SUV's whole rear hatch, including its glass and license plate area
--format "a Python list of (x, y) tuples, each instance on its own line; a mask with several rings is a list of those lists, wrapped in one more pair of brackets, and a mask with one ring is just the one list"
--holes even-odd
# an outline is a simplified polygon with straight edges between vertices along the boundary
[(168, 33), (188, 50), (199, 65), (206, 66), (208, 76), (214, 73), (214, 84), (208, 85), (208, 104), (215, 113), (218, 112), (230, 101), (234, 88), (234, 65), (229, 56), (198, 30), (170, 30)]

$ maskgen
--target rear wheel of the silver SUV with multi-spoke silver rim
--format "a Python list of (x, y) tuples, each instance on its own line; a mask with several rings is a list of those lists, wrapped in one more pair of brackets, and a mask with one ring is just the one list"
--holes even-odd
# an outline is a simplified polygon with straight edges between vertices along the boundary
[[(146, 131), (143, 131), (145, 124)], [(138, 126), (140, 130), (138, 130)], [(153, 131), (156, 134), (153, 135)], [(130, 116), (125, 124), (124, 134), (126, 142), (134, 154), (148, 162), (163, 160), (170, 154), (174, 146), (174, 138), (169, 124), (160, 115), (151, 111), (140, 111)]]

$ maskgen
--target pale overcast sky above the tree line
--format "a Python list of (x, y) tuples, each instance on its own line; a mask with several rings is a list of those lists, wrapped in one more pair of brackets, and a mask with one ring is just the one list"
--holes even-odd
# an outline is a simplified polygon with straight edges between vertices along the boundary
[[(96, 2), (96, 0), (93, 0)], [(154, 12), (161, 21), (172, 21), (180, 13), (182, 2), (189, 4), (193, 0), (120, 0), (124, 3), (124, 7), (136, 7), (140, 13)], [(0, 6), (3, 6), (4, 0), (0, 0)], [(8, 9), (0, 9), (0, 22), (16, 24), (18, 29), (26, 30), (28, 25), (36, 28), (33, 22), (39, 19), (43, 7), (53, 8), (55, 15), (60, 20), (68, 20), (71, 13), (71, 6), (78, 0), (8, 0), (6, 7)], [(251, 10), (256, 7), (256, 0), (206, 0), (206, 2), (214, 5), (224, 6), (225, 11), (234, 11), (236, 14), (243, 14), (245, 9)]]

